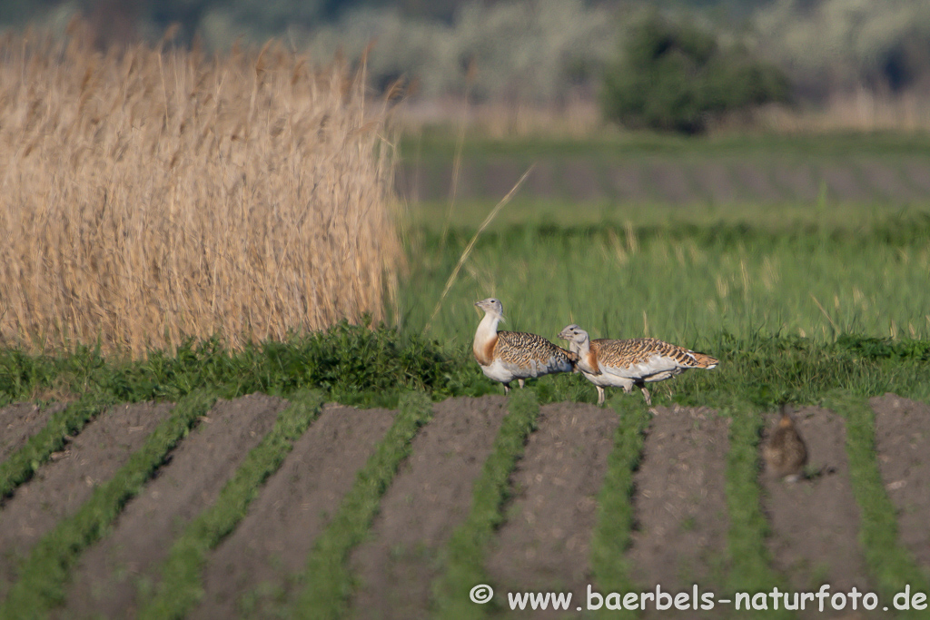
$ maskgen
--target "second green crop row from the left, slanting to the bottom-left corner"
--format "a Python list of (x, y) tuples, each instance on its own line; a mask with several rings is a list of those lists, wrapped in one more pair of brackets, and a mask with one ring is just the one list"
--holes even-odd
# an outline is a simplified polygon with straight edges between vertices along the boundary
[(77, 512), (59, 521), (36, 543), (22, 566), (20, 580), (0, 606), (0, 618), (43, 618), (64, 602), (71, 568), (81, 552), (106, 533), (126, 501), (140, 492), (168, 452), (215, 401), (210, 392), (196, 391), (178, 402), (112, 479), (97, 487)]

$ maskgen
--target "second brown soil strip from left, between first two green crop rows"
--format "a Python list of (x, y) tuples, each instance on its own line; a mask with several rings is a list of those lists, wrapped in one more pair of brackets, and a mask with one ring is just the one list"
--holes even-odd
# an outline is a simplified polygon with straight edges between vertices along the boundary
[(102, 413), (7, 499), (0, 509), (0, 599), (36, 541), (126, 464), (170, 410), (142, 403)]

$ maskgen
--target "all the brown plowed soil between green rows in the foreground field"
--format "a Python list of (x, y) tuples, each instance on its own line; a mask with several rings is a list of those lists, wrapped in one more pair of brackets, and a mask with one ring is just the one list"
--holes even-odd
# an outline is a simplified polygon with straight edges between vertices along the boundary
[[(367, 537), (345, 559), (352, 588), (343, 593), (344, 615), (425, 618), (437, 613), (433, 585), (445, 571), (445, 546), (472, 509), (472, 488), (495, 449), (507, 403), (504, 397), (485, 396), (432, 405), (432, 418), (409, 442), (408, 455), (380, 495)], [(216, 402), (111, 526), (65, 569), (67, 593), (51, 606), (53, 615), (132, 618), (143, 613), (161, 579), (168, 549), (218, 500), (248, 451), (287, 406), (262, 394)], [(912, 550), (926, 572), (930, 407), (894, 395), (872, 399), (870, 407), (874, 459), (897, 510), (900, 544)], [(0, 457), (19, 449), (56, 410), (25, 403), (0, 410)], [(101, 412), (3, 499), (0, 597), (7, 597), (22, 576), (20, 568), (36, 541), (123, 467), (170, 410), (170, 404), (136, 404)], [(808, 479), (790, 484), (772, 480), (764, 471), (756, 478), (769, 565), (779, 585), (793, 590), (816, 591), (821, 583), (830, 583), (833, 592), (853, 586), (879, 591), (868, 554), (858, 542), (862, 512), (850, 480), (846, 418), (843, 412), (813, 407), (798, 409), (794, 416), (810, 452)], [(293, 610), (288, 601), (314, 579), (302, 573), (308, 554), (396, 419), (396, 412), (388, 410), (324, 406), (257, 489), (233, 531), (206, 549), (202, 596), (188, 616), (268, 617)], [(774, 414), (766, 417), (764, 427), (771, 428), (775, 420)], [(476, 614), (509, 613), (507, 592), (571, 591), (572, 615), (586, 604), (588, 585), (598, 587), (591, 566), (598, 502), (615, 449), (615, 430), (623, 424), (613, 409), (590, 404), (539, 408), (482, 560), (488, 583), (498, 594), (492, 605), (475, 605)], [(618, 559), (626, 562), (631, 584), (653, 590), (660, 584), (672, 592), (690, 592), (697, 584), (701, 591), (723, 597), (730, 583), (730, 427), (730, 418), (712, 408), (654, 410), (632, 472), (631, 545)], [(462, 597), (467, 596), (463, 591)], [(719, 609), (684, 616), (727, 614)], [(813, 615), (817, 613), (800, 617)]]

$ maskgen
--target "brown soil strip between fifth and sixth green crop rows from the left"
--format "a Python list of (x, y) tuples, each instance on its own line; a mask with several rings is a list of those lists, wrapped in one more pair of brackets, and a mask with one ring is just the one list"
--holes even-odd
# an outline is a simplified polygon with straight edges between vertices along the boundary
[(511, 475), (514, 497), (487, 572), (498, 597), (543, 589), (583, 600), (591, 582), (596, 496), (618, 416), (590, 404), (556, 403), (542, 407), (537, 422)]

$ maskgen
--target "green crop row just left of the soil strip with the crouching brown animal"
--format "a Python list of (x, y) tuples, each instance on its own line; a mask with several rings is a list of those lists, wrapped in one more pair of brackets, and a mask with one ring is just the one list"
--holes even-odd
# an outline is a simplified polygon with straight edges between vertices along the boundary
[[(727, 407), (730, 415), (730, 450), (726, 456), (726, 509), (730, 517), (726, 550), (729, 561), (726, 595), (736, 592), (785, 591), (781, 577), (772, 568), (765, 547), (768, 521), (762, 511), (759, 485), (759, 437), (765, 420), (762, 411), (748, 402)], [(730, 597), (732, 598), (732, 597)], [(772, 608), (766, 617), (793, 617), (784, 607)], [(742, 611), (742, 610), (741, 610)]]

